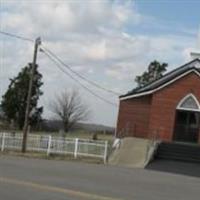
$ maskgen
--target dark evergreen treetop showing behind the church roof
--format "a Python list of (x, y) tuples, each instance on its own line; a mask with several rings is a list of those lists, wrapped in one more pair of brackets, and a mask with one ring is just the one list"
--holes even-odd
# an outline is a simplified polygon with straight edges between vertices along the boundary
[(138, 87), (143, 87), (152, 81), (155, 81), (163, 76), (163, 73), (167, 70), (167, 63), (160, 63), (153, 61), (149, 64), (148, 69), (141, 76), (136, 76), (135, 81)]

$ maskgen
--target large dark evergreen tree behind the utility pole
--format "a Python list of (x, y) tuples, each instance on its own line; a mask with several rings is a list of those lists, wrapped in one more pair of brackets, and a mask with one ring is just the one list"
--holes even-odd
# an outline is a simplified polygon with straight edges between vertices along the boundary
[[(16, 77), (10, 79), (10, 84), (1, 102), (6, 120), (14, 121), (20, 129), (24, 125), (31, 67), (32, 65), (29, 64)], [(43, 94), (40, 90), (42, 85), (42, 75), (38, 72), (38, 66), (36, 66), (30, 103), (29, 122), (32, 126), (41, 121), (43, 107), (37, 107), (37, 104), (39, 97)]]

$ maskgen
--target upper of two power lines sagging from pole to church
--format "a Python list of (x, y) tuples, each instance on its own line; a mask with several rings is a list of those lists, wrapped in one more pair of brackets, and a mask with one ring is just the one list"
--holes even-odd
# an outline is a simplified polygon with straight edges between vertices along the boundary
[(84, 81), (88, 82), (89, 84), (92, 84), (93, 86), (99, 88), (99, 89), (102, 89), (106, 92), (109, 92), (109, 93), (112, 93), (114, 95), (117, 95), (119, 96), (120, 94), (113, 91), (113, 90), (110, 90), (110, 89), (107, 89), (107, 88), (104, 88), (102, 87), (101, 85), (95, 83), (94, 81), (91, 81), (87, 78), (85, 78), (84, 76), (82, 76), (81, 74), (79, 74), (78, 72), (76, 72), (75, 70), (73, 70), (69, 65), (67, 65), (66, 63), (64, 63), (58, 56), (56, 56), (52, 51), (50, 51), (49, 49), (45, 48), (43, 46), (43, 49), (46, 50), (51, 56), (53, 56), (56, 60), (58, 60), (62, 65), (64, 65), (68, 70), (70, 70), (73, 74), (75, 74), (76, 76), (78, 76), (79, 78), (83, 79)]

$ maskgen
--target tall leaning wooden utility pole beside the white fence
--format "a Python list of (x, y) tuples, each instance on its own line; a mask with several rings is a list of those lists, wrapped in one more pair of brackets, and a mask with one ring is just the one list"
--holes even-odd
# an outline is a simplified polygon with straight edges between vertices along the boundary
[(27, 103), (26, 103), (26, 113), (25, 113), (25, 120), (24, 120), (24, 127), (23, 127), (23, 141), (22, 141), (22, 152), (23, 153), (26, 152), (26, 142), (27, 142), (27, 134), (28, 134), (28, 126), (29, 126), (29, 115), (30, 115), (30, 103), (31, 103), (32, 87), (33, 87), (33, 80), (34, 80), (35, 69), (36, 69), (38, 47), (39, 47), (40, 44), (41, 44), (41, 39), (40, 39), (40, 37), (38, 37), (35, 40), (33, 63), (31, 64), (31, 73), (30, 73), (30, 80), (29, 80)]

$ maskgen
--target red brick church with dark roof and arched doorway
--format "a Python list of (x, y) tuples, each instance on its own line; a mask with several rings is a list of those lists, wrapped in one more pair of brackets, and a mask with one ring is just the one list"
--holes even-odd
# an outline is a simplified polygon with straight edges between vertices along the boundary
[(120, 96), (117, 136), (200, 141), (200, 60)]

